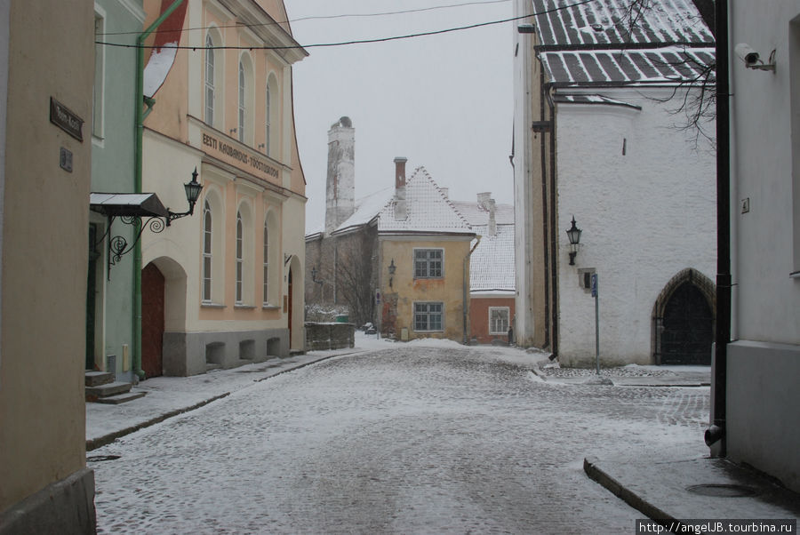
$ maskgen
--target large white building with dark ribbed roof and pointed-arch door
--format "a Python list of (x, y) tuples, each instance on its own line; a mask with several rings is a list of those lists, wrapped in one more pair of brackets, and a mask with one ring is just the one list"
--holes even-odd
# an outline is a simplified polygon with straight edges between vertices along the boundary
[(692, 0), (644, 10), (632, 35), (628, 2), (569, 4), (516, 5), (540, 13), (516, 32), (517, 340), (592, 363), (596, 274), (602, 363), (710, 363), (715, 157), (675, 111), (714, 37)]

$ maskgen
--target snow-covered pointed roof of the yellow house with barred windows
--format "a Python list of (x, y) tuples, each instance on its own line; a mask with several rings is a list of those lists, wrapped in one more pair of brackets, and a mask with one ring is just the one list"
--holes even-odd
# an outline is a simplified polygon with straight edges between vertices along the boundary
[(474, 234), (467, 220), (447, 199), (424, 167), (418, 167), (411, 178), (406, 180), (405, 202), (407, 215), (404, 219), (395, 218), (394, 201), (383, 206), (378, 219), (379, 234)]

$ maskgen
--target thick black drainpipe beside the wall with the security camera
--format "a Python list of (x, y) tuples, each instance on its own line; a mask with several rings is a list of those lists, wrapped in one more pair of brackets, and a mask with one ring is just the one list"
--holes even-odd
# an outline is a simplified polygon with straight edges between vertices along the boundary
[(725, 457), (727, 361), (731, 340), (731, 124), (728, 73), (728, 2), (715, 2), (716, 26), (716, 336), (711, 383), (712, 424), (706, 430), (712, 454)]

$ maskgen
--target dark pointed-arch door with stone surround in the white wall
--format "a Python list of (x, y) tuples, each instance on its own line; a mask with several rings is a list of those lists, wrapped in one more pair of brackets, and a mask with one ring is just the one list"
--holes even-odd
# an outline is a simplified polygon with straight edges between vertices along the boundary
[(653, 357), (657, 364), (711, 363), (716, 287), (696, 269), (675, 275), (653, 307)]

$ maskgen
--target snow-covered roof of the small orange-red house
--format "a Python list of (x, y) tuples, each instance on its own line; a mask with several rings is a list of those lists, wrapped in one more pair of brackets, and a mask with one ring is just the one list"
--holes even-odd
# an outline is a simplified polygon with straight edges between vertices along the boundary
[(495, 236), (486, 225), (473, 228), (482, 237), (469, 259), (469, 291), (514, 291), (514, 225), (498, 225)]

